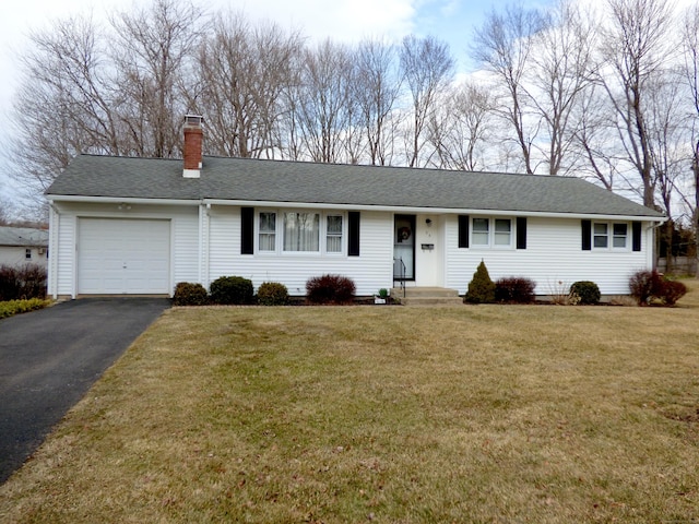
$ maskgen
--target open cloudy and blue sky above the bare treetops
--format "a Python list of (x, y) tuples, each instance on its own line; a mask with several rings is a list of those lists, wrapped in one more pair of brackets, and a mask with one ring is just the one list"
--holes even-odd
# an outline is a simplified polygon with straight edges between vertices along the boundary
[[(553, 0), (522, 0), (526, 7), (543, 7)], [(110, 10), (128, 10), (132, 0), (22, 0), (3, 1), (0, 7), (0, 115), (7, 121), (19, 73), (17, 57), (27, 48), (31, 31), (46, 27), (51, 20), (91, 13), (105, 20)], [(311, 39), (332, 38), (356, 41), (382, 36), (398, 41), (404, 35), (434, 35), (448, 41), (461, 72), (473, 69), (467, 57), (475, 27), (493, 9), (501, 10), (507, 0), (208, 0), (198, 2), (217, 11), (242, 10), (252, 20), (269, 19), (283, 27), (300, 29)], [(7, 175), (4, 144), (9, 126), (0, 127), (0, 195), (12, 195), (13, 181)]]

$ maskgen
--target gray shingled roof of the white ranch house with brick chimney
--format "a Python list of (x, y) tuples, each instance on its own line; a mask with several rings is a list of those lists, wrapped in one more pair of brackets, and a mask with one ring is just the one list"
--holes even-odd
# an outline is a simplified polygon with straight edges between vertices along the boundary
[(186, 179), (182, 160), (81, 155), (47, 194), (662, 216), (574, 177), (210, 156)]

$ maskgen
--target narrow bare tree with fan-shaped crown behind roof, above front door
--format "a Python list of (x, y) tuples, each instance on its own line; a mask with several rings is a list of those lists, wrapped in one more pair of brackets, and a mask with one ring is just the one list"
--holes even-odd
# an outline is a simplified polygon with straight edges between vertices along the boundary
[(454, 60), (449, 46), (431, 36), (417, 38), (408, 35), (401, 47), (401, 69), (412, 102), (412, 121), (406, 156), (411, 167), (426, 164), (420, 153), (427, 138), (425, 129), (437, 107), (440, 93), (453, 79)]

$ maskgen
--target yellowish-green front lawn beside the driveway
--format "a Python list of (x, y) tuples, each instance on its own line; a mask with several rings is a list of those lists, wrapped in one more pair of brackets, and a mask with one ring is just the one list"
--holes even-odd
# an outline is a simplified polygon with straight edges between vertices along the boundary
[(697, 522), (688, 284), (676, 308), (175, 308), (0, 521)]

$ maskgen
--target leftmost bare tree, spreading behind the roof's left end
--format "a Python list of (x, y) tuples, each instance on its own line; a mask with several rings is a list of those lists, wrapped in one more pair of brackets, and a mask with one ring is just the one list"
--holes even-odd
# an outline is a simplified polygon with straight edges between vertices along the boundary
[(40, 194), (79, 153), (120, 154), (108, 66), (88, 17), (31, 36), (15, 95), (13, 175)]

